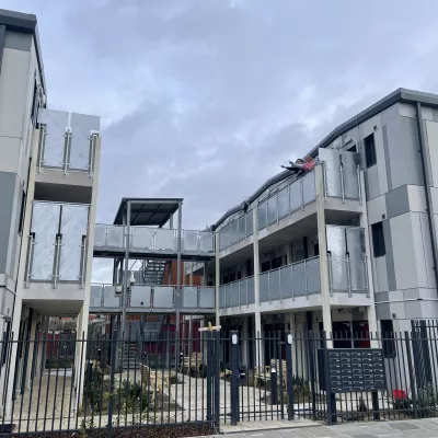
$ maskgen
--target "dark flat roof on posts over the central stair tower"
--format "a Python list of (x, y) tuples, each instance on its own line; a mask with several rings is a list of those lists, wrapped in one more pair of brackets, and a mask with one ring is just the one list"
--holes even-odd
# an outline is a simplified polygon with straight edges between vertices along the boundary
[(130, 224), (163, 227), (177, 211), (183, 198), (123, 198), (114, 219), (115, 226), (123, 224), (130, 201)]

